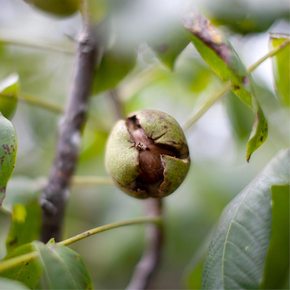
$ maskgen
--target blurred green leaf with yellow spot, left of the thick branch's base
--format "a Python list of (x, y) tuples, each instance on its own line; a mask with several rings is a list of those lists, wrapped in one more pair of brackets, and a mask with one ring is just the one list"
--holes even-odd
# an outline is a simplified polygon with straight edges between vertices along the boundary
[(42, 180), (13, 178), (7, 187), (3, 207), (11, 212), (11, 224), (6, 238), (7, 252), (37, 240), (40, 234), (41, 209), (39, 192)]

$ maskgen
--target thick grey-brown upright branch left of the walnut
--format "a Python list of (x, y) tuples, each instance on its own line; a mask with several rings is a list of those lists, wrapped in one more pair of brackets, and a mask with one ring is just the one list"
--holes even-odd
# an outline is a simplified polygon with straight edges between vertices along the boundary
[(80, 34), (68, 106), (60, 125), (59, 140), (48, 182), (42, 192), (41, 240), (60, 240), (65, 203), (79, 156), (81, 131), (88, 111), (88, 99), (98, 44), (86, 24)]

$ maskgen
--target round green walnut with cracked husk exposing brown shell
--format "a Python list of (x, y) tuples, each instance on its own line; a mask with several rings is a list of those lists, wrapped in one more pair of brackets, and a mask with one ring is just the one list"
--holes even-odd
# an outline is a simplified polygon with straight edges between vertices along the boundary
[(190, 158), (177, 121), (160, 111), (143, 110), (114, 126), (105, 163), (124, 192), (137, 198), (161, 198), (183, 182)]

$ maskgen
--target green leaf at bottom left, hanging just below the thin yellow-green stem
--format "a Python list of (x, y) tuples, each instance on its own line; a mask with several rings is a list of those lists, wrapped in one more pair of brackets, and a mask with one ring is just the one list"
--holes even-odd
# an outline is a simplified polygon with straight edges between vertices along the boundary
[(45, 289), (92, 289), (88, 271), (79, 254), (57, 244), (34, 243), (40, 256)]

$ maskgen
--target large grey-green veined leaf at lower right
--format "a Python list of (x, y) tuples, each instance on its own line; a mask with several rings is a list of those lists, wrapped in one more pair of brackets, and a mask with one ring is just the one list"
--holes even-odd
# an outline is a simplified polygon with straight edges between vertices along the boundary
[(290, 149), (226, 207), (209, 247), (204, 289), (259, 288), (271, 234), (271, 187), (289, 183), (289, 172)]

